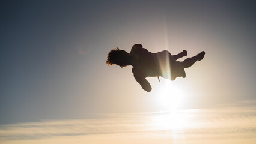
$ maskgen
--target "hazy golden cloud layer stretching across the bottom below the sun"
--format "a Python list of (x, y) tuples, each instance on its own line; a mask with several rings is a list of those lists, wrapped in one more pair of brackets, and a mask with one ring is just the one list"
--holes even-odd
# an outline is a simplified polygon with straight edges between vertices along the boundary
[(0, 136), (2, 143), (254, 143), (256, 101), (249, 103), (8, 124)]

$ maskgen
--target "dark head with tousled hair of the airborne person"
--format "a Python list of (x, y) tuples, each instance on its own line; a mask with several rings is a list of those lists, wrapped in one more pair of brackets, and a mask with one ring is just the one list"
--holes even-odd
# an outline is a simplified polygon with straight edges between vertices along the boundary
[(120, 67), (126, 67), (132, 64), (132, 58), (130, 57), (129, 53), (124, 50), (112, 49), (108, 53), (108, 59), (106, 61), (108, 65), (119, 65)]

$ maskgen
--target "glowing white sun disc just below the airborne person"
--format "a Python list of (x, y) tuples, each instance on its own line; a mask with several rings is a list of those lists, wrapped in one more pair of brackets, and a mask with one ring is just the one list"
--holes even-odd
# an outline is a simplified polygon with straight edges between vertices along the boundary
[(171, 112), (176, 112), (183, 106), (185, 96), (186, 92), (184, 89), (181, 89), (181, 87), (174, 85), (174, 83), (168, 80), (162, 83), (156, 98), (160, 107)]

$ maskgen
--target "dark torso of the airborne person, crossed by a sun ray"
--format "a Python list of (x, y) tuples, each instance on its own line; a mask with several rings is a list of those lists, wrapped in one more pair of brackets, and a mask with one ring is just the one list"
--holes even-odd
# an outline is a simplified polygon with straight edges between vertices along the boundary
[(133, 49), (133, 67), (144, 77), (162, 76), (174, 80), (176, 77), (186, 76), (183, 64), (175, 61), (168, 51), (158, 53), (148, 52), (147, 49)]

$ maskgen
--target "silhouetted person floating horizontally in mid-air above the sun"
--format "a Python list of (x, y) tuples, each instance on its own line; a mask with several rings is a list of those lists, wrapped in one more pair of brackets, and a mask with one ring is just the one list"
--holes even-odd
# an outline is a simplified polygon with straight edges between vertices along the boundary
[(147, 91), (151, 91), (150, 83), (146, 77), (164, 77), (166, 79), (175, 80), (176, 77), (186, 77), (184, 68), (191, 67), (196, 61), (204, 58), (205, 52), (198, 53), (192, 58), (187, 58), (184, 61), (176, 61), (178, 58), (187, 56), (187, 51), (178, 55), (171, 55), (167, 50), (158, 53), (148, 52), (141, 44), (135, 44), (130, 53), (118, 48), (111, 50), (108, 53), (106, 63), (108, 65), (119, 65), (126, 67), (132, 65), (132, 73), (136, 81), (141, 87)]

